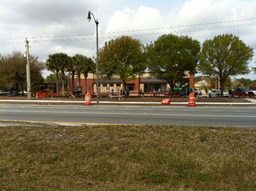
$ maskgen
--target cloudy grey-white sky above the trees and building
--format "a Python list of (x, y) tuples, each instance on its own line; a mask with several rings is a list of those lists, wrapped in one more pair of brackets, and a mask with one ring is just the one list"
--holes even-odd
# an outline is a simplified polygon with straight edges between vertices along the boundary
[[(88, 22), (89, 11), (99, 22), (99, 48), (122, 35), (146, 45), (162, 34), (201, 44), (233, 34), (256, 54), (256, 0), (0, 0), (0, 54), (25, 52), (27, 39), (29, 53), (43, 61), (57, 52), (96, 57), (96, 23), (92, 15)], [(255, 62), (256, 56), (250, 68)], [(235, 78), (256, 80), (256, 74)]]

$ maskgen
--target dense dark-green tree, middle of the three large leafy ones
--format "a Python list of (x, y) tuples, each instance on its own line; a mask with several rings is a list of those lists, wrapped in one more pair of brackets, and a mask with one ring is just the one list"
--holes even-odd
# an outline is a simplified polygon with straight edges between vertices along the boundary
[(164, 34), (146, 49), (150, 76), (168, 82), (173, 97), (175, 81), (195, 73), (200, 42), (188, 36)]

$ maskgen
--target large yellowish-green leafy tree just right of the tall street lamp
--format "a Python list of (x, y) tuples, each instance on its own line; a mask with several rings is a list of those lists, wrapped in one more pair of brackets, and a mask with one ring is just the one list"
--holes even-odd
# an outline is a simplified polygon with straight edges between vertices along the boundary
[(135, 80), (146, 70), (144, 45), (140, 40), (129, 36), (121, 36), (105, 43), (99, 49), (100, 76), (111, 79), (119, 76), (124, 84), (125, 96), (127, 96), (126, 82)]

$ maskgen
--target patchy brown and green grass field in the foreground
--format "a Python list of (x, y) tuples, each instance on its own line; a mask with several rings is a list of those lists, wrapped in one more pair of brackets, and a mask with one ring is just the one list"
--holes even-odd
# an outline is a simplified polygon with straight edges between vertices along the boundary
[(256, 129), (0, 127), (0, 191), (255, 191)]

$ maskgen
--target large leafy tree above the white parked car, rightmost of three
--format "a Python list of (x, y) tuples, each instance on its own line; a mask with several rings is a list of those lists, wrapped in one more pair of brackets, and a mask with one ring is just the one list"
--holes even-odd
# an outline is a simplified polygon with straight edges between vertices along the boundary
[(248, 64), (253, 55), (253, 48), (246, 46), (237, 36), (218, 35), (202, 44), (198, 70), (216, 79), (220, 77), (221, 96), (223, 96), (225, 81), (229, 76), (250, 73)]

